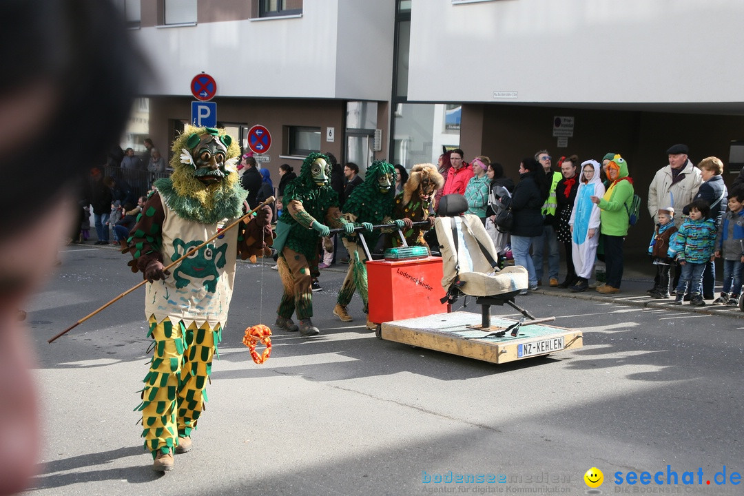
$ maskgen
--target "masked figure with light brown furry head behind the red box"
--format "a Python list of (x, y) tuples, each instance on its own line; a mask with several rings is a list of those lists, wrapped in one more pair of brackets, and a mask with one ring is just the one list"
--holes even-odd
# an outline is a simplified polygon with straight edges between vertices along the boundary
[[(444, 178), (433, 164), (417, 164), (408, 174), (403, 191), (395, 197), (393, 205), (393, 219), (402, 219), (405, 222), (403, 236), (408, 246), (426, 246), (429, 243), (423, 238), (426, 231), (431, 227), (413, 226), (414, 222), (428, 220), (434, 225), (434, 216), (431, 214), (431, 205), (434, 194), (444, 184)], [(398, 236), (388, 236), (390, 246), (401, 246), (403, 243)]]

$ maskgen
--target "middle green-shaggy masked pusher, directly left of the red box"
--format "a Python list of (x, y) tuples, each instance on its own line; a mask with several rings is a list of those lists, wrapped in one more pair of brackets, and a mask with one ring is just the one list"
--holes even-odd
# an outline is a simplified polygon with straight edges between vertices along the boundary
[[(365, 181), (355, 187), (351, 195), (344, 203), (344, 218), (348, 222), (359, 223), (365, 227), (367, 233), (364, 233), (365, 241), (368, 247), (374, 248), (379, 238), (380, 231), (371, 231), (373, 225), (379, 224), (396, 224), (396, 227), (402, 229), (405, 225), (403, 220), (393, 222), (391, 213), (393, 211), (393, 200), (395, 199), (394, 191), (395, 169), (391, 164), (384, 160), (374, 161), (367, 170)], [(360, 249), (358, 244), (359, 236), (356, 233), (344, 236), (344, 246), (349, 251), (349, 268), (346, 273), (344, 283), (341, 284), (339, 297), (336, 300), (336, 306), (333, 308), (333, 315), (336, 315), (343, 322), (353, 321), (353, 318), (347, 311), (347, 305), (351, 301), (354, 292), (359, 290), (362, 297), (364, 312), (368, 312), (367, 292), (367, 271), (365, 269), (365, 252)], [(369, 326), (374, 324), (368, 322)]]

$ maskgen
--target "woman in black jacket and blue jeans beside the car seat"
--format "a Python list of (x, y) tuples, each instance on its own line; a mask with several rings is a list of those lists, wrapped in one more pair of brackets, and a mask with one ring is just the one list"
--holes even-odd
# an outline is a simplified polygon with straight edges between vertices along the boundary
[[(534, 158), (525, 158), (519, 164), (519, 184), (512, 195), (514, 225), (511, 230), (512, 254), (514, 265), (527, 269), (530, 289), (537, 289), (537, 275), (530, 257), (530, 246), (542, 234), (542, 213), (540, 209), (545, 202), (545, 182), (547, 178), (542, 166)], [(520, 294), (527, 294), (522, 291)]]

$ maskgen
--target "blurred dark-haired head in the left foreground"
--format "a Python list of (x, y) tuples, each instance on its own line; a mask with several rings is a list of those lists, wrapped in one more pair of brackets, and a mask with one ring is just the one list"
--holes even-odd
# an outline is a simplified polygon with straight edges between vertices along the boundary
[(57, 257), (75, 187), (118, 143), (147, 71), (104, 0), (4, 0), (0, 55), (0, 495), (33, 474), (33, 358), (19, 309)]

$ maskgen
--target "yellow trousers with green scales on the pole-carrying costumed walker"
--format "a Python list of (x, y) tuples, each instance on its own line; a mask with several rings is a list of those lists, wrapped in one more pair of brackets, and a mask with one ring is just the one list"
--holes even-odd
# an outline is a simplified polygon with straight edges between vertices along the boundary
[(192, 323), (174, 325), (150, 318), (153, 361), (144, 378), (142, 412), (145, 448), (153, 452), (172, 452), (178, 437), (191, 435), (207, 401), (206, 383), (212, 369), (212, 357), (222, 339), (222, 328), (208, 323), (199, 328)]

